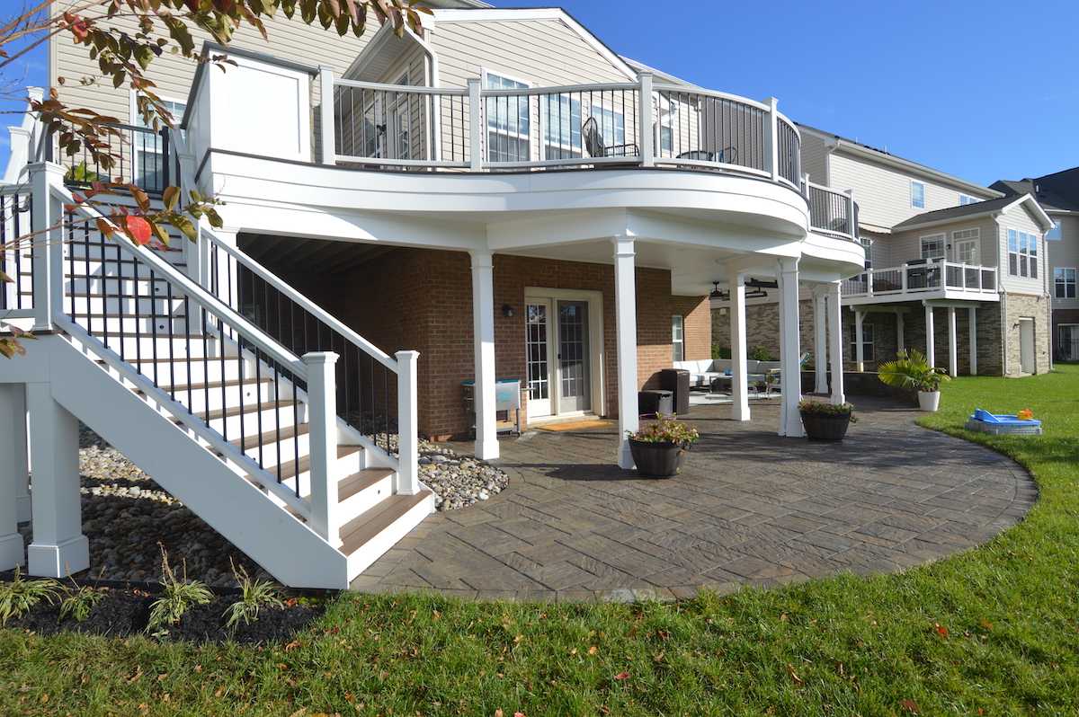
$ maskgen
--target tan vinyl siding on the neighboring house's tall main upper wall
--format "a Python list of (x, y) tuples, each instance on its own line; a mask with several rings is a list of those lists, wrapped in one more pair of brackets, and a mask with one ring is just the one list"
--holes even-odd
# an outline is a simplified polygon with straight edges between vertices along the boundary
[[(875, 226), (894, 226), (915, 215), (959, 205), (959, 195), (970, 192), (920, 178), (913, 173), (877, 164), (863, 157), (844, 154), (842, 149), (829, 158), (830, 185), (853, 189), (859, 220)], [(926, 206), (911, 206), (911, 180), (926, 188)], [(989, 198), (988, 192), (978, 198)]]

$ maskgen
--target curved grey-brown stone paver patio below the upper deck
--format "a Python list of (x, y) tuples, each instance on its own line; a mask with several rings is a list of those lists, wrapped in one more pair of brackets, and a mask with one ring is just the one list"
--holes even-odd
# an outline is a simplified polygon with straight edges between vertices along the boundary
[(673, 599), (889, 573), (985, 542), (1037, 499), (1012, 460), (915, 426), (913, 410), (858, 404), (839, 444), (777, 437), (777, 402), (754, 403), (750, 423), (730, 420), (729, 406), (695, 408), (684, 418), (701, 440), (666, 480), (612, 465), (615, 429), (503, 439), (503, 493), (427, 519), (353, 588)]

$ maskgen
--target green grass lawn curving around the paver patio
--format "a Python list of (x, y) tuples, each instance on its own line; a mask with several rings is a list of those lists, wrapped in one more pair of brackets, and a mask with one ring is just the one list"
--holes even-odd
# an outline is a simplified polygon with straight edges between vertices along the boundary
[[(1046, 435), (967, 433), (975, 405), (1033, 409)], [(345, 595), (288, 648), (0, 630), (0, 714), (1075, 715), (1079, 367), (960, 378), (942, 406), (923, 423), (1013, 456), (1041, 495), (925, 568), (677, 605)]]

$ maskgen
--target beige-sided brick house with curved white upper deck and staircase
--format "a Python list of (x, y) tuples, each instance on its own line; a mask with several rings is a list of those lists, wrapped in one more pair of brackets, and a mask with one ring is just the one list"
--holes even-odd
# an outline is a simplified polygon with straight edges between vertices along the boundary
[[(42, 153), (24, 156), (62, 166), (19, 169), (29, 190), (3, 190), (11, 221), (63, 220), (46, 236), (65, 238), (4, 258), (18, 280), (0, 308), (41, 332), (37, 360), (0, 362), (3, 417), (19, 426), (26, 401), (33, 439), (31, 573), (88, 560), (76, 418), (282, 581), (344, 587), (432, 510), (418, 435), (475, 430), (488, 459), (500, 409), (519, 403), (527, 426), (617, 417), (612, 460), (630, 468), (638, 391), (710, 355), (713, 285), (730, 292), (742, 359), (745, 287), (776, 285), (784, 376), (800, 370), (800, 289), (812, 291), (844, 400), (857, 208), (806, 181), (805, 133), (775, 99), (652, 73), (561, 10), (435, 4), (422, 37), (283, 19), (269, 46), (207, 45), (234, 63), (224, 72), (163, 57), (182, 127), (125, 130), (112, 174), (155, 197), (179, 182), (220, 198), (224, 227), (195, 244), (106, 242), (63, 187), (98, 169), (27, 133)], [(82, 51), (54, 42), (51, 81), (90, 71)], [(64, 87), (139, 124), (122, 91)], [(748, 420), (745, 361), (732, 383)], [(780, 436), (802, 435), (798, 399), (783, 391)], [(24, 506), (12, 435), (2, 469), (22, 487), (6, 473), (0, 505)], [(0, 569), (17, 559), (5, 515)]]

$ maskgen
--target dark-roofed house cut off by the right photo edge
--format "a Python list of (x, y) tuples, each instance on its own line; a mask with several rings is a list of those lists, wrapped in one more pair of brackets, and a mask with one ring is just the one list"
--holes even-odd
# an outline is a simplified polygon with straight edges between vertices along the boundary
[(1002, 179), (991, 187), (1008, 195), (1030, 194), (1053, 220), (1046, 234), (1053, 358), (1079, 361), (1079, 167), (1034, 179)]

